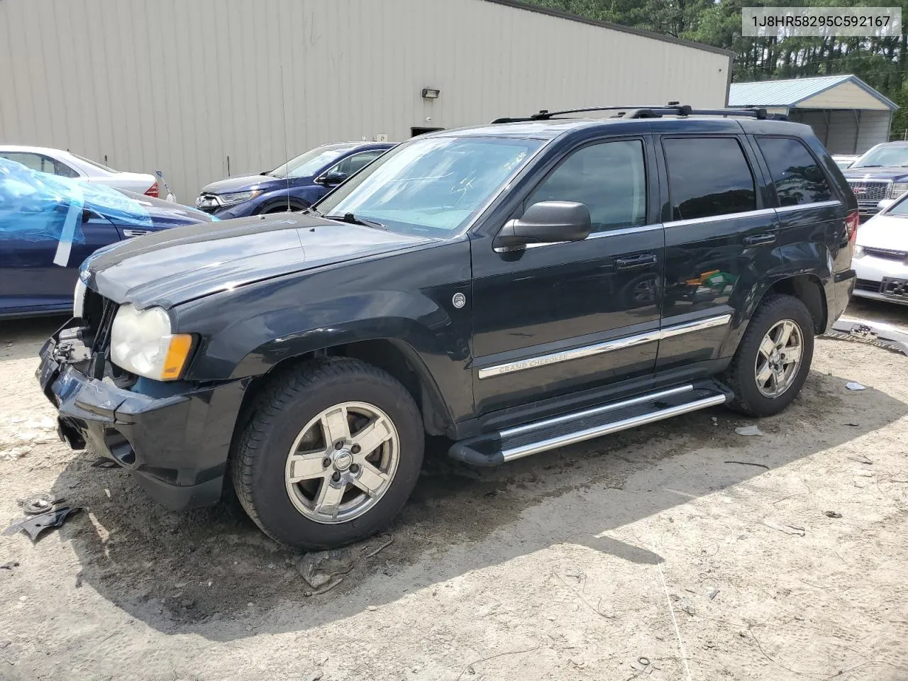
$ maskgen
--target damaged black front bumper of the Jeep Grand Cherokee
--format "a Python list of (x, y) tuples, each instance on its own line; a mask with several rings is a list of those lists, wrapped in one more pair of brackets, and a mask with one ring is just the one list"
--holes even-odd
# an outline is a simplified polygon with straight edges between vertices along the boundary
[(58, 433), (73, 449), (90, 446), (129, 469), (167, 508), (221, 497), (243, 381), (199, 385), (136, 381), (129, 389), (78, 369), (60, 331), (44, 343), (35, 376), (59, 410)]

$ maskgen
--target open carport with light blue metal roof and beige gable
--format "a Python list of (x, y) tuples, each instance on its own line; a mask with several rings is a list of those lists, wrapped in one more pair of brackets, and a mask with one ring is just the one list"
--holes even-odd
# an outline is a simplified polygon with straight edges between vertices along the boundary
[(898, 107), (856, 75), (735, 83), (729, 106), (759, 106), (807, 123), (830, 153), (864, 153), (889, 141)]

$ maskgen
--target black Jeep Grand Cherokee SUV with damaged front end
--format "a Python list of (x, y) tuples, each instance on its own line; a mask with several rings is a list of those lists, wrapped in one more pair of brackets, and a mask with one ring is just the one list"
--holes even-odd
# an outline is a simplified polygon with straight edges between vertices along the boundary
[[(629, 109), (630, 107), (623, 107)], [(316, 204), (115, 244), (38, 372), (75, 449), (272, 538), (385, 526), (425, 433), (492, 466), (804, 383), (858, 215), (806, 125), (666, 106), (401, 143)]]

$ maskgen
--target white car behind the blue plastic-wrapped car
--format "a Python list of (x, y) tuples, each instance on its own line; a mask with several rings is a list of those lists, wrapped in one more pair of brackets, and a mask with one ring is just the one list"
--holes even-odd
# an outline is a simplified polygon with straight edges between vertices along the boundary
[(158, 195), (157, 178), (150, 173), (121, 173), (75, 153), (64, 152), (62, 149), (0, 144), (0, 158), (22, 163), (26, 168), (38, 173), (51, 173), (89, 183), (106, 184), (114, 189), (125, 189), (145, 196)]

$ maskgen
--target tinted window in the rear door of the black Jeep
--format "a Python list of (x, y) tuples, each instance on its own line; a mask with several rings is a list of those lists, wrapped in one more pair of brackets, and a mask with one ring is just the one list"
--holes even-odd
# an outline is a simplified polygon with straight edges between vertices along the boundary
[(754, 174), (734, 137), (663, 139), (672, 220), (756, 209)]

